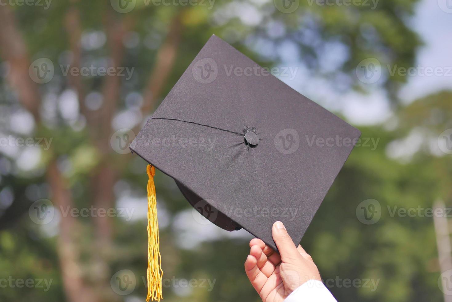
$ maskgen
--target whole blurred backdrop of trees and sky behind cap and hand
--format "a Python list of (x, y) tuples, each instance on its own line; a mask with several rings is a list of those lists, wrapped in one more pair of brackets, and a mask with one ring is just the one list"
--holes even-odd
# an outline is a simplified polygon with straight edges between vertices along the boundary
[[(450, 0), (0, 0), (0, 301), (145, 301), (127, 145), (212, 34), (363, 132), (301, 241), (337, 300), (451, 301), (451, 25)], [(164, 301), (260, 301), (251, 236), (155, 181)]]

